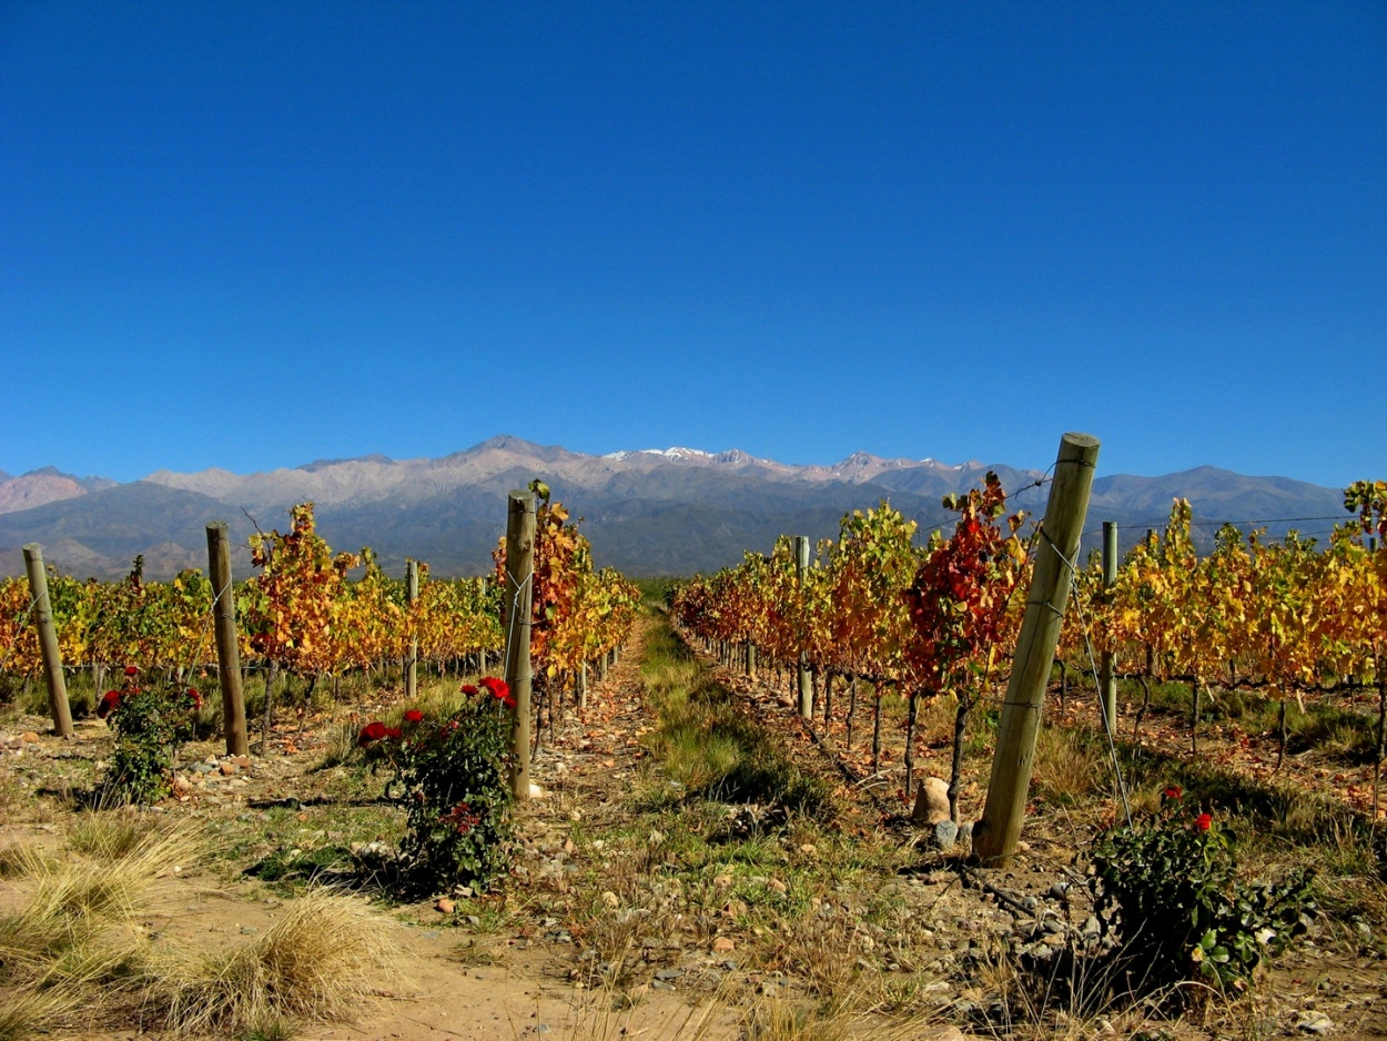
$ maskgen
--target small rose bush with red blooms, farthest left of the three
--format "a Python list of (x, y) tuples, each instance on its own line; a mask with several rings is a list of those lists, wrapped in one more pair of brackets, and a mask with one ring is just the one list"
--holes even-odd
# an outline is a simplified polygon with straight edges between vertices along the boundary
[(115, 751), (103, 781), (103, 802), (157, 802), (169, 794), (173, 758), (197, 722), (201, 695), (171, 683), (140, 683), (140, 670), (125, 669), (125, 682), (108, 690), (96, 713), (115, 730)]

